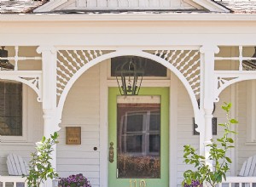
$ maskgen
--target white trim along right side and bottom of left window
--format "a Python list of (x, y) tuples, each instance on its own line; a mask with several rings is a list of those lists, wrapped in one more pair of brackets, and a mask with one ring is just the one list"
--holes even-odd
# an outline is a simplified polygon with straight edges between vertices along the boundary
[(22, 136), (1, 136), (0, 143), (26, 142), (28, 132), (28, 87), (22, 84)]

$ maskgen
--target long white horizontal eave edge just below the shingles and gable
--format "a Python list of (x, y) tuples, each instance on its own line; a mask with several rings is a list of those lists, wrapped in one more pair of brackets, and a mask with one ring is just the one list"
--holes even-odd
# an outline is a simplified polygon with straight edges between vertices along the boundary
[(256, 14), (0, 14), (0, 21), (247, 21), (255, 22)]

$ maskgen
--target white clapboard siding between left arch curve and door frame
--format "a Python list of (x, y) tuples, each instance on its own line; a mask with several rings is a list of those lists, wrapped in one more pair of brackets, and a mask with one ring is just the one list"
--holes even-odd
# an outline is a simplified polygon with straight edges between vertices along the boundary
[[(57, 144), (60, 176), (83, 173), (93, 187), (99, 186), (100, 181), (99, 85), (99, 65), (90, 68), (73, 84), (64, 105)], [(81, 144), (66, 144), (65, 127), (81, 127)]]

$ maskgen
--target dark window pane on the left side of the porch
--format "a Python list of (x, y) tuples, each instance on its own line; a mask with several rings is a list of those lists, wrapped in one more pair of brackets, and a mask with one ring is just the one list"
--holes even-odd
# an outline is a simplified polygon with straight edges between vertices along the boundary
[(22, 135), (22, 83), (0, 81), (0, 134)]

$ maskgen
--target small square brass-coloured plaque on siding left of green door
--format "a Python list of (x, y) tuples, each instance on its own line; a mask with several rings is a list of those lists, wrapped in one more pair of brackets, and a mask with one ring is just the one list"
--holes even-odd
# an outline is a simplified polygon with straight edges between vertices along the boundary
[(81, 127), (66, 127), (66, 144), (81, 144)]

